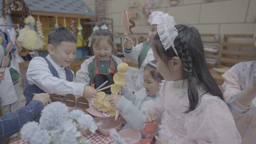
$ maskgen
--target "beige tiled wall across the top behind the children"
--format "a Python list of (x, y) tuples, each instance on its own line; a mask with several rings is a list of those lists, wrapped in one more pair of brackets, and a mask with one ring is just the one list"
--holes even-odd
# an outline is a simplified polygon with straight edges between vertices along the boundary
[[(128, 9), (129, 0), (106, 0), (107, 17), (114, 19), (114, 32), (124, 32), (122, 27), (123, 9)], [(147, 17), (142, 13), (146, 0), (138, 0), (138, 8), (128, 11), (138, 12), (135, 20), (136, 33), (147, 33)], [(95, 0), (84, 0), (95, 10)], [(158, 9), (174, 16), (176, 23), (197, 27), (202, 34), (256, 34), (256, 0), (181, 0), (177, 6), (171, 6), (169, 0), (163, 0)]]

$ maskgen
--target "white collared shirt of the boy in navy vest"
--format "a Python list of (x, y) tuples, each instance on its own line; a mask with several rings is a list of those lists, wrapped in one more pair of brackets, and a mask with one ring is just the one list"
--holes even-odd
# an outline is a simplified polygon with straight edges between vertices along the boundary
[(53, 76), (46, 60), (39, 56), (33, 58), (27, 67), (26, 78), (28, 83), (36, 84), (37, 87), (49, 94), (66, 95), (71, 93), (82, 96), (84, 84), (67, 81), (64, 67), (55, 63), (49, 54), (46, 58), (53, 64), (60, 78)]

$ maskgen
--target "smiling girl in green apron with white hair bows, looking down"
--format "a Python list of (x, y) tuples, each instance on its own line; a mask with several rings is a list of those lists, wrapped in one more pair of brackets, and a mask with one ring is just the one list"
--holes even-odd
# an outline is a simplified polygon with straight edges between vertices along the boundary
[[(113, 34), (106, 25), (93, 27), (91, 45), (95, 55), (82, 63), (81, 69), (76, 72), (75, 82), (95, 84), (95, 89), (105, 81), (108, 81), (105, 86), (113, 84), (113, 76), (118, 72), (117, 66), (122, 63), (121, 59), (112, 54), (113, 44)], [(104, 92), (110, 94), (110, 89)]]

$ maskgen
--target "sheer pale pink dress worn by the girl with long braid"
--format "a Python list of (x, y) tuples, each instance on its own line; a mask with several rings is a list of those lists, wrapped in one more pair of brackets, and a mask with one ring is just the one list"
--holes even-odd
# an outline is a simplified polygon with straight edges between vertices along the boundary
[(226, 103), (197, 87), (201, 97), (198, 107), (185, 114), (189, 106), (186, 82), (161, 83), (160, 97), (152, 107), (161, 118), (159, 137), (168, 144), (241, 144)]

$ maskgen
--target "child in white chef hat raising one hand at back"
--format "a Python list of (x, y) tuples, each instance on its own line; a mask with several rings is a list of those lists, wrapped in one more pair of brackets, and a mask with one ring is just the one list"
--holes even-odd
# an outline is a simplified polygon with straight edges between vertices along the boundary
[[(135, 88), (136, 91), (144, 88), (143, 70), (146, 67), (148, 62), (151, 62), (155, 59), (153, 56), (153, 51), (151, 49), (151, 42), (157, 33), (156, 26), (160, 24), (160, 16), (164, 14), (165, 13), (162, 11), (153, 11), (149, 16), (148, 23), (150, 24), (150, 27), (149, 27), (147, 42), (143, 42), (136, 46), (133, 46), (134, 44), (133, 40), (128, 36), (126, 36), (123, 41), (124, 56), (131, 60), (138, 61), (139, 72), (137, 74), (137, 79), (136, 79), (136, 88)], [(174, 17), (169, 16), (168, 18), (171, 19), (174, 25), (176, 24), (174, 22)]]

